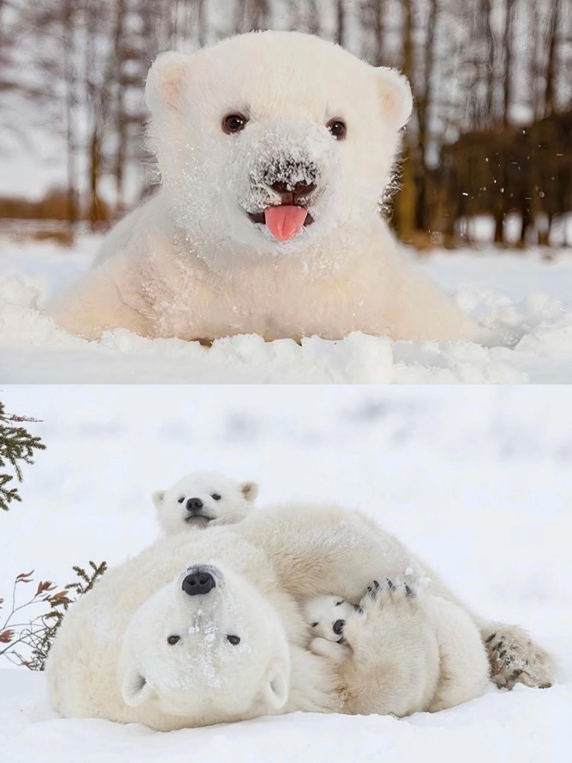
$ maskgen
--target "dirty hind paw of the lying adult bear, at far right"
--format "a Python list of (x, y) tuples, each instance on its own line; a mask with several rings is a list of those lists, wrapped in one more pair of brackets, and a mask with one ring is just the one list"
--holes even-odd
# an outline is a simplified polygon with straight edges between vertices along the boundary
[(532, 641), (519, 626), (501, 625), (482, 633), (489, 656), (491, 680), (512, 689), (515, 684), (541, 689), (552, 685), (552, 666), (548, 652)]

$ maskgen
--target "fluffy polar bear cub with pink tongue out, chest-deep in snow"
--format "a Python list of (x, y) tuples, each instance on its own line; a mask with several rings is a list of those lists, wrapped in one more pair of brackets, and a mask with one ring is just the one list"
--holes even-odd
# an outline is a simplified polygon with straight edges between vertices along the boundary
[(48, 307), (64, 328), (474, 339), (378, 214), (412, 108), (403, 76), (317, 37), (267, 31), (163, 53), (146, 102), (162, 186)]

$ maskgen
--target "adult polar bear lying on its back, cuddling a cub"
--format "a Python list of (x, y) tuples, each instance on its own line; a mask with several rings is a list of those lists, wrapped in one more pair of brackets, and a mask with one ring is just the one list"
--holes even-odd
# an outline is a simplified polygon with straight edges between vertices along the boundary
[[(334, 591), (357, 602), (372, 579), (409, 565), (427, 571), (371, 520), (336, 507), (277, 507), (167, 536), (66, 614), (47, 662), (53, 707), (166, 730), (293, 710), (405, 715), (470, 699), (488, 672), (476, 630), (476, 652), (458, 632), (463, 671), (439, 681), (432, 666), (446, 655), (413, 600), (370, 604), (365, 625), (349, 626), (354, 657), (343, 669), (305, 648), (297, 602)], [(435, 576), (429, 590), (455, 611), (451, 625), (471, 625)], [(550, 681), (547, 655), (522, 631), (484, 626), (481, 635), (503, 643), (502, 658), (490, 649), (501, 683), (515, 671), (531, 685)], [(447, 697), (448, 684), (457, 689)]]

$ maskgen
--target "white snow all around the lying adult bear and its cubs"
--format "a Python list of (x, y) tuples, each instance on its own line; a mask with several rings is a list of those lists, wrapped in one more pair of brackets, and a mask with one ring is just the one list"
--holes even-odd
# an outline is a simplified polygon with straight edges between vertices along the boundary
[[(217, 468), (259, 504), (338, 501), (376, 517), (471, 606), (522, 623), (558, 681), (396, 720), (295, 713), (160, 733), (63, 720), (42, 674), (0, 670), (2, 763), (565, 763), (572, 747), (572, 389), (11, 387), (47, 443), (0, 516), (0, 597), (14, 575), (60, 584), (158, 532), (150, 494)], [(1, 663), (0, 663), (1, 664)], [(4, 665), (6, 667), (6, 665)]]

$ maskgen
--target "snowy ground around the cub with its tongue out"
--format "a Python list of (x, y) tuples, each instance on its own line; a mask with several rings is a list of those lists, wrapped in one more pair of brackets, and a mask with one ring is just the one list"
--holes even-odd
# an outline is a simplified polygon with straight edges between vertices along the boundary
[(4, 382), (69, 383), (570, 383), (572, 254), (466, 250), (419, 262), (490, 330), (490, 346), (390, 342), (354, 333), (264, 343), (255, 335), (149, 340), (120, 329), (88, 342), (36, 309), (85, 272), (99, 239), (74, 250), (0, 239), (0, 366)]

